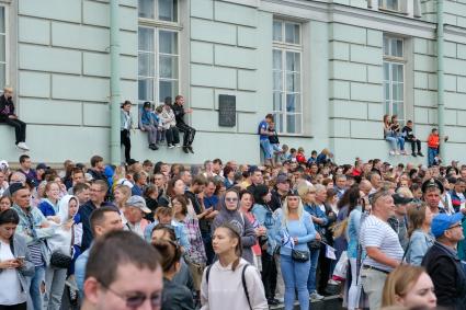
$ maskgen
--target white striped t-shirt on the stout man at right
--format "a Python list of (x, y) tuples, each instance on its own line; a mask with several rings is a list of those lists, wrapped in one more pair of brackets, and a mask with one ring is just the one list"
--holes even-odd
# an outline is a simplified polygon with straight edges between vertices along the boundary
[[(390, 259), (401, 261), (404, 250), (398, 239), (398, 234), (391, 227), (379, 218), (371, 215), (361, 227), (361, 245), (363, 249), (367, 246), (378, 248), (385, 255)], [(364, 265), (390, 272), (393, 267), (380, 264), (368, 255), (364, 257)]]

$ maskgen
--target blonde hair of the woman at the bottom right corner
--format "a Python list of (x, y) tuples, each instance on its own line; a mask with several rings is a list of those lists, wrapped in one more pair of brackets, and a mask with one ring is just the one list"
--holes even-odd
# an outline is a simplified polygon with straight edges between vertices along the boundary
[(419, 266), (399, 265), (385, 279), (382, 307), (398, 306), (396, 297), (404, 297), (425, 269)]

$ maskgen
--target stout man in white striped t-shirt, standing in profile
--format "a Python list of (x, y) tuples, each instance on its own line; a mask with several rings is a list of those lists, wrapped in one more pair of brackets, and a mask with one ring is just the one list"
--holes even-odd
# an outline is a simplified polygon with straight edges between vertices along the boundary
[(366, 255), (362, 259), (361, 279), (368, 296), (371, 310), (382, 305), (385, 279), (401, 262), (404, 250), (398, 234), (387, 223), (395, 216), (395, 204), (390, 192), (379, 191), (372, 198), (372, 214), (361, 226), (360, 241)]

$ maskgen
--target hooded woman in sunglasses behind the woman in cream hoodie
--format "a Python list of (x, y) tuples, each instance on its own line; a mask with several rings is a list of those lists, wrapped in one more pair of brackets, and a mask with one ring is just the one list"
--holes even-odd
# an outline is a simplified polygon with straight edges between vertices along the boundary
[(250, 264), (254, 263), (251, 246), (255, 244), (255, 232), (249, 219), (247, 219), (239, 208), (239, 195), (235, 190), (227, 190), (219, 199), (220, 210), (212, 222), (212, 231), (223, 223), (235, 226), (241, 236), (242, 257)]

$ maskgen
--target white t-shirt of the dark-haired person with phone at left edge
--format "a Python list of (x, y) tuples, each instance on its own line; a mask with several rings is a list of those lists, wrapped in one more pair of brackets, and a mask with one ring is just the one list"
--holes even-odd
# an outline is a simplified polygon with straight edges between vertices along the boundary
[[(10, 244), (0, 241), (0, 261), (14, 260)], [(26, 301), (26, 296), (21, 291), (20, 276), (16, 269), (3, 269), (0, 273), (0, 283), (8, 289), (0, 289), (0, 305), (12, 306)]]

